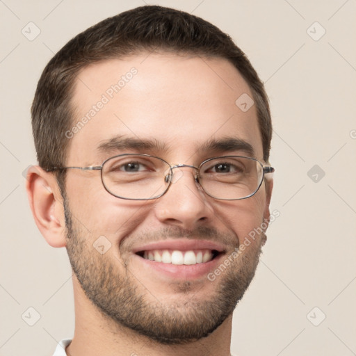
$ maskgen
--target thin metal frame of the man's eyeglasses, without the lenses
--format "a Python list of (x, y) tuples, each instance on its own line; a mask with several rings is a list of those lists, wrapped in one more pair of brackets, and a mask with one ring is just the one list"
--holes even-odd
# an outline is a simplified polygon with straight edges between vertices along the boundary
[[(105, 165), (105, 163), (107, 161), (110, 161), (111, 159), (115, 159), (116, 157), (120, 157), (120, 156), (146, 156), (146, 157), (152, 157), (154, 159), (159, 159), (161, 161), (163, 161), (164, 163), (166, 163), (169, 167), (170, 167), (170, 181), (168, 181), (168, 186), (165, 188), (165, 191), (163, 193), (161, 193), (160, 195), (156, 195), (154, 197), (148, 197), (148, 198), (130, 198), (130, 197), (120, 197), (119, 195), (115, 195), (114, 193), (112, 193), (111, 191), (108, 190), (108, 188), (106, 187), (105, 183), (104, 183), (104, 179), (103, 179), (103, 167)], [(255, 161), (257, 163), (259, 163), (259, 165), (261, 165), (262, 168), (262, 177), (261, 177), (261, 181), (259, 183), (259, 186), (257, 186), (256, 190), (251, 193), (250, 195), (248, 195), (247, 197), (239, 197), (239, 198), (234, 198), (234, 199), (226, 199), (226, 198), (219, 198), (219, 197), (214, 197), (213, 195), (209, 194), (207, 191), (205, 191), (204, 187), (200, 184), (200, 168), (202, 167), (202, 165), (204, 165), (205, 163), (212, 161), (213, 159), (227, 159), (227, 158), (232, 158), (232, 157), (238, 157), (238, 158), (242, 158), (242, 159), (250, 159), (252, 161)], [(203, 161), (202, 163), (200, 163), (199, 167), (195, 167), (195, 165), (188, 165), (188, 164), (176, 164), (176, 165), (170, 165), (170, 163), (168, 163), (167, 161), (165, 161), (164, 159), (161, 159), (161, 157), (157, 157), (157, 156), (152, 156), (151, 154), (136, 154), (136, 153), (126, 153), (126, 154), (118, 154), (116, 156), (113, 157), (109, 157), (108, 159), (106, 159), (102, 165), (90, 165), (88, 167), (76, 167), (76, 166), (71, 166), (71, 167), (54, 167), (51, 168), (49, 170), (47, 170), (47, 172), (54, 172), (54, 170), (67, 170), (67, 169), (78, 169), (78, 170), (100, 170), (100, 177), (102, 179), (102, 185), (104, 186), (105, 190), (113, 195), (114, 197), (118, 197), (119, 199), (124, 199), (124, 200), (154, 200), (154, 199), (158, 199), (159, 197), (165, 195), (165, 193), (168, 192), (168, 189), (170, 188), (170, 185), (172, 184), (172, 178), (173, 178), (173, 170), (175, 168), (181, 168), (181, 167), (188, 167), (188, 168), (194, 168), (195, 170), (197, 170), (197, 174), (195, 175), (195, 181), (197, 184), (199, 184), (199, 186), (202, 188), (202, 190), (204, 191), (205, 194), (209, 195), (209, 197), (213, 197), (214, 199), (217, 200), (243, 200), (243, 199), (247, 199), (248, 197), (252, 197), (253, 195), (255, 195), (257, 193), (257, 191), (259, 191), (259, 188), (261, 187), (263, 181), (264, 181), (264, 175), (268, 174), (268, 173), (273, 173), (275, 172), (275, 168), (271, 167), (271, 166), (264, 166), (258, 159), (254, 159), (252, 157), (246, 157), (246, 156), (217, 156), (217, 157), (212, 157), (211, 159), (206, 159), (205, 161)], [(163, 177), (164, 179), (167, 177), (168, 175), (166, 175), (165, 177)]]

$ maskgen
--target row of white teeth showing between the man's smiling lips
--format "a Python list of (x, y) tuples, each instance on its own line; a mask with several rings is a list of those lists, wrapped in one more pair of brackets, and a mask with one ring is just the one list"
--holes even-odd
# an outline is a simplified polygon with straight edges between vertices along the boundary
[(163, 264), (194, 265), (212, 261), (223, 252), (217, 250), (145, 250), (136, 252), (143, 259)]

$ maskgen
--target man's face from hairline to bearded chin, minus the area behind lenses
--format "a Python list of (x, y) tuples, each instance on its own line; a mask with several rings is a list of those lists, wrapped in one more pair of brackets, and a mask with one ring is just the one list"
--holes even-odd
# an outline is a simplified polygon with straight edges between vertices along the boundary
[[(135, 74), (125, 75), (133, 67)], [(121, 76), (115, 92), (111, 86)], [(250, 144), (252, 156), (263, 161), (256, 108), (243, 112), (235, 105), (243, 93), (252, 97), (223, 59), (145, 53), (86, 67), (72, 98), (73, 126), (93, 105), (95, 114), (69, 139), (67, 166), (101, 165), (125, 153), (195, 167), (215, 156), (251, 156), (241, 147), (209, 147), (229, 138)], [(86, 296), (111, 322), (162, 343), (200, 339), (232, 314), (254, 275), (263, 236), (233, 252), (269, 214), (265, 184), (245, 200), (216, 200), (196, 183), (193, 168), (173, 172), (168, 192), (155, 200), (114, 197), (99, 170), (68, 170), (65, 188), (67, 252)], [(147, 259), (163, 251), (193, 251), (206, 261)]]

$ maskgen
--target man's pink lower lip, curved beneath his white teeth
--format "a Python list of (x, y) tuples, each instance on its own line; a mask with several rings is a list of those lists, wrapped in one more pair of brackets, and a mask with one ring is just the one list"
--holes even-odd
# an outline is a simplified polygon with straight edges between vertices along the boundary
[(220, 259), (223, 258), (223, 253), (220, 253), (217, 257), (209, 262), (202, 264), (163, 264), (163, 262), (151, 261), (144, 259), (143, 257), (135, 255), (136, 258), (144, 264), (145, 268), (152, 268), (158, 273), (166, 275), (170, 278), (179, 280), (196, 280), (198, 278), (206, 276), (209, 272), (214, 270), (218, 266)]

